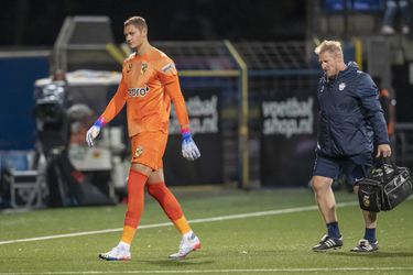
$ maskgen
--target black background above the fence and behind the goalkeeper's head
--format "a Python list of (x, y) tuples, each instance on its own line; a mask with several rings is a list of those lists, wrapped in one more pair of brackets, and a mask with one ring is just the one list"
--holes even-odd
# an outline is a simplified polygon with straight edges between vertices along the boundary
[(146, 19), (153, 41), (286, 41), (305, 37), (305, 0), (1, 0), (0, 46), (52, 46), (67, 15)]

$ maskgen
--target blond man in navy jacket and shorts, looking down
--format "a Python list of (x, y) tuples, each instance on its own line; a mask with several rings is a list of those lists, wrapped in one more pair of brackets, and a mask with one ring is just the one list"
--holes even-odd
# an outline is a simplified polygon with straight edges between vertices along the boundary
[[(325, 74), (317, 92), (319, 130), (312, 186), (327, 234), (313, 251), (326, 251), (343, 246), (333, 180), (345, 173), (355, 179), (357, 191), (357, 180), (366, 177), (372, 165), (373, 140), (378, 144), (377, 156), (390, 156), (391, 148), (378, 89), (371, 77), (360, 72), (356, 63), (344, 63), (339, 42), (324, 41), (315, 53)], [(363, 211), (362, 215), (365, 237), (351, 251), (372, 252), (378, 250), (377, 213)]]

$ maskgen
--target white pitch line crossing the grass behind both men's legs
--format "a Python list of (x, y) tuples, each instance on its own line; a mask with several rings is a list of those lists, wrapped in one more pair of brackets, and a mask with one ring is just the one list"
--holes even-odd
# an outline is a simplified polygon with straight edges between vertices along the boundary
[[(341, 202), (341, 204), (338, 204), (337, 206), (349, 207), (349, 206), (356, 206), (356, 205), (358, 205), (357, 201), (350, 201), (350, 202)], [(211, 222), (211, 221), (225, 221), (225, 220), (244, 219), (244, 218), (253, 218), (253, 217), (262, 217), (262, 216), (312, 211), (312, 210), (317, 210), (317, 209), (318, 209), (317, 206), (306, 206), (306, 207), (286, 208), (286, 209), (278, 209), (278, 210), (269, 210), (269, 211), (260, 211), (260, 212), (251, 212), (251, 213), (239, 213), (239, 215), (203, 218), (203, 219), (189, 220), (188, 222), (202, 223), (202, 222)], [(140, 226), (139, 230), (150, 229), (150, 228), (163, 228), (163, 227), (170, 227), (170, 226), (172, 226), (171, 222), (153, 223), (153, 224), (148, 224), (148, 226)], [(61, 239), (61, 238), (112, 233), (112, 232), (120, 232), (122, 230), (123, 228), (113, 228), (113, 229), (84, 231), (84, 232), (75, 232), (75, 233), (67, 233), (67, 234), (44, 235), (44, 237), (28, 238), (28, 239), (8, 240), (8, 241), (0, 241), (0, 245), (10, 244), (10, 243), (19, 243), (19, 242), (35, 242), (35, 241), (45, 241), (45, 240)]]

